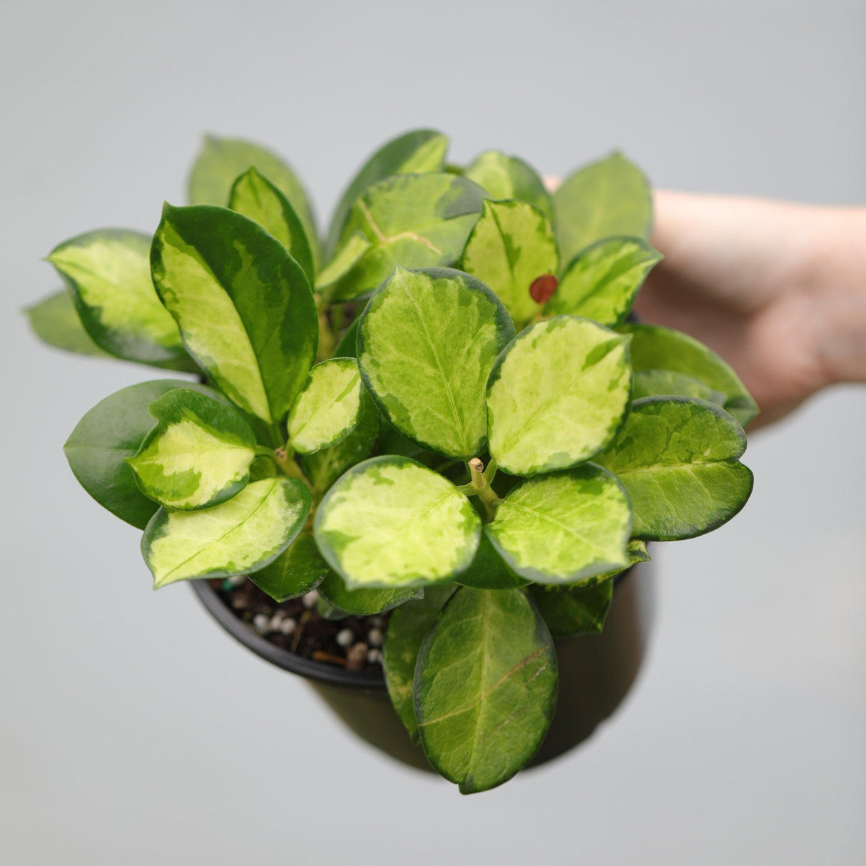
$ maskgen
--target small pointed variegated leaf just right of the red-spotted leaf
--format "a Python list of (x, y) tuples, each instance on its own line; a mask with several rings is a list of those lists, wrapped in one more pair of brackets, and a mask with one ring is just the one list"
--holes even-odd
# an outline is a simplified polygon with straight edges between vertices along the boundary
[(625, 320), (662, 254), (639, 237), (608, 237), (575, 256), (545, 313), (585, 316), (601, 325)]

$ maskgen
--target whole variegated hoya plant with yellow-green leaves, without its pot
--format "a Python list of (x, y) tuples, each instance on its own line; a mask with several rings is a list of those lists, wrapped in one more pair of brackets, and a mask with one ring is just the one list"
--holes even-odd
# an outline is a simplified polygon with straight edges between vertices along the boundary
[(294, 172), (207, 139), (153, 236), (48, 256), (54, 346), (191, 374), (107, 397), (66, 454), (144, 530), (154, 585), (247, 575), (323, 613), (391, 611), (385, 681), (462, 792), (533, 757), (556, 642), (601, 630), (645, 542), (692, 538), (752, 489), (756, 414), (694, 339), (630, 320), (660, 255), (622, 155), (551, 196), (525, 162), (445, 162), (409, 132), (349, 184), (324, 240)]

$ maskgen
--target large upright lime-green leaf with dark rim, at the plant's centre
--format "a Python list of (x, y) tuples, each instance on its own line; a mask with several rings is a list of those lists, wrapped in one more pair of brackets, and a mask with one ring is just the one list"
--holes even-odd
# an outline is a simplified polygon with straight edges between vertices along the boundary
[(514, 337), (495, 295), (446, 268), (397, 268), (359, 326), (358, 364), (385, 417), (445, 456), (481, 453), (488, 373)]

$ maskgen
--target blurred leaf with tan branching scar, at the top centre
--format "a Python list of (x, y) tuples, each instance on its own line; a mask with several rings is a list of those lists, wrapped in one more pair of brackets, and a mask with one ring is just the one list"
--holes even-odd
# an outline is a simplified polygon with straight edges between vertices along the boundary
[(400, 174), (370, 187), (352, 206), (340, 247), (360, 232), (370, 242), (329, 289), (336, 301), (371, 291), (395, 266), (435, 268), (460, 260), (484, 191), (453, 174)]

